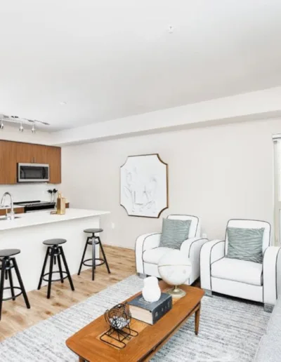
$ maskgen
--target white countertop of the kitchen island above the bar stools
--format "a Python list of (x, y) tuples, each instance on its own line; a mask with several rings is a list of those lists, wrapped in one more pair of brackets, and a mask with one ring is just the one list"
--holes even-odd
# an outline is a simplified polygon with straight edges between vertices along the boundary
[(100, 216), (110, 214), (109, 211), (83, 210), (79, 208), (68, 208), (65, 215), (51, 215), (48, 211), (35, 211), (34, 213), (17, 214), (15, 220), (0, 220), (0, 232), (18, 227), (32, 227), (34, 225), (49, 224), (67, 220), (81, 219), (83, 217)]

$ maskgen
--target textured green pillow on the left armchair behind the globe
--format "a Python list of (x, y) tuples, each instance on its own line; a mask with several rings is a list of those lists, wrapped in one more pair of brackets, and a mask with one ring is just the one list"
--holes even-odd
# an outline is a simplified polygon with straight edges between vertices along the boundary
[(163, 219), (160, 245), (165, 248), (180, 249), (188, 239), (191, 220)]

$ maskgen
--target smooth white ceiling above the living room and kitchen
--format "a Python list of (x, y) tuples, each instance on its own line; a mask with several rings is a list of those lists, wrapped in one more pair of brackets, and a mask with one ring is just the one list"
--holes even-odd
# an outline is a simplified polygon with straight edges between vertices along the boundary
[(0, 8), (0, 113), (50, 130), (281, 84), (280, 0), (1, 0)]

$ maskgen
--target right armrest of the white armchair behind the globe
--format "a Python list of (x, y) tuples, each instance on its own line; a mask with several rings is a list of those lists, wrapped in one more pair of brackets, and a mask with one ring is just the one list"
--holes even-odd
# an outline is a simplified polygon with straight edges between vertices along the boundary
[(197, 237), (187, 239), (181, 244), (181, 251), (189, 258), (192, 267), (188, 284), (192, 284), (200, 276), (200, 250), (207, 241), (208, 239)]

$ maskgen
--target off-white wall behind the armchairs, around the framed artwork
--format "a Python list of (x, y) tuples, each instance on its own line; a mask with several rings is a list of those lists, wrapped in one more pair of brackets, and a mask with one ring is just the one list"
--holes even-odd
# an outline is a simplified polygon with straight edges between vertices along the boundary
[[(133, 248), (169, 213), (198, 215), (209, 238), (223, 238), (232, 217), (273, 222), (272, 134), (280, 130), (275, 119), (63, 147), (62, 189), (74, 207), (111, 211), (102, 222), (108, 244)], [(159, 220), (129, 217), (119, 205), (119, 167), (126, 156), (155, 152), (169, 163), (169, 209)]]

